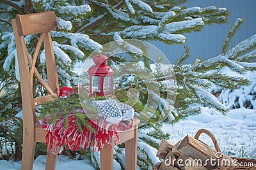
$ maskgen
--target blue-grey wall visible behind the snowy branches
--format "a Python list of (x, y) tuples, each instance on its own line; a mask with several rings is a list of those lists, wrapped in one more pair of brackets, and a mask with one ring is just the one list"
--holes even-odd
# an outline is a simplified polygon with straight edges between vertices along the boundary
[[(221, 53), (223, 41), (227, 36), (227, 32), (238, 17), (244, 19), (241, 29), (234, 36), (231, 46), (236, 45), (243, 39), (249, 38), (256, 34), (256, 0), (189, 0), (184, 6), (217, 6), (227, 8), (230, 16), (225, 24), (206, 25), (200, 32), (192, 32), (184, 34), (187, 38), (188, 46), (190, 47), (190, 57), (186, 60), (187, 63), (195, 61), (198, 57), (209, 59)], [(184, 52), (184, 45), (164, 45), (159, 41), (150, 41), (156, 45), (168, 57), (173, 64), (174, 61)]]

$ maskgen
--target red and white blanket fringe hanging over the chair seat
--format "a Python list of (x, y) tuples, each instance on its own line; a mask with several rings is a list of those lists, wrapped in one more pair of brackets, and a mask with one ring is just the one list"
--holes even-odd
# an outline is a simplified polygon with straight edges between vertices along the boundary
[(94, 134), (83, 127), (83, 133), (79, 132), (76, 126), (76, 115), (68, 115), (68, 128), (65, 127), (65, 118), (57, 120), (56, 124), (47, 124), (50, 117), (45, 117), (45, 120), (39, 120), (42, 128), (47, 131), (45, 136), (46, 145), (50, 143), (50, 149), (52, 153), (56, 154), (56, 146), (60, 146), (60, 153), (63, 151), (63, 147), (66, 146), (70, 150), (88, 150), (93, 144), (93, 151), (100, 151), (103, 146), (106, 145), (118, 145), (120, 144), (119, 131), (127, 131), (131, 129), (133, 120), (122, 121), (120, 124), (109, 124), (103, 117), (97, 120), (88, 120), (93, 128), (97, 131)]

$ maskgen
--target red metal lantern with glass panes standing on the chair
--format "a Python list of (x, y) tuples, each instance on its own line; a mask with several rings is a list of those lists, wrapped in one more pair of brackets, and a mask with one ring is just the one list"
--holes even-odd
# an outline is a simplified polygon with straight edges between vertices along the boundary
[(113, 69), (106, 65), (108, 57), (99, 54), (93, 57), (95, 65), (88, 69), (90, 76), (90, 97), (113, 96)]

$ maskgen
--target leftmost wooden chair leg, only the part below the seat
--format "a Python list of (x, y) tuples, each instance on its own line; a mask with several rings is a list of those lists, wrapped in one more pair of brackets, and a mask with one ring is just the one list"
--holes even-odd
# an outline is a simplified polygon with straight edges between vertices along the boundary
[(36, 142), (33, 138), (23, 138), (21, 170), (32, 170)]

